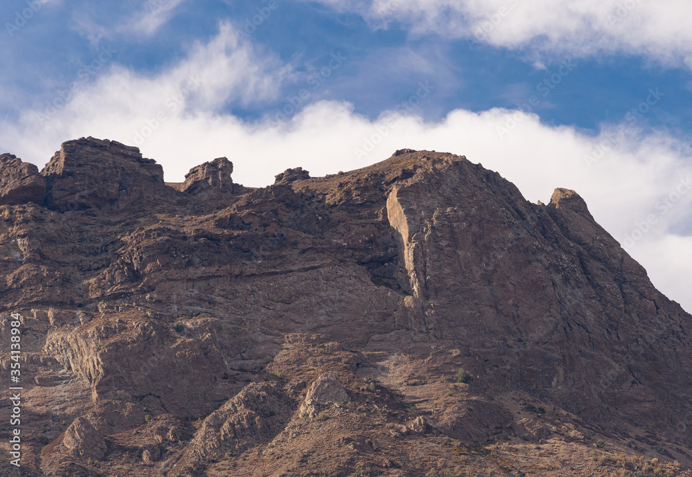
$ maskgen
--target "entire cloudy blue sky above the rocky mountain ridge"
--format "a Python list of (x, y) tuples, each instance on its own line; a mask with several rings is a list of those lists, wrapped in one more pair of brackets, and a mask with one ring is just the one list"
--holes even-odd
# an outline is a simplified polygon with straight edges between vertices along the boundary
[(136, 145), (167, 181), (219, 156), (267, 186), (395, 150), (554, 188), (692, 312), (692, 3), (5, 0), (0, 153)]

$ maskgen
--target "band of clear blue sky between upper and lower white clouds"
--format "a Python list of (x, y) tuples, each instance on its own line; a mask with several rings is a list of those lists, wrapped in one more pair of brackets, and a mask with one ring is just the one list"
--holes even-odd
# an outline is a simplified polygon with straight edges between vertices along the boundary
[[(584, 57), (579, 52), (548, 51), (537, 66), (527, 46), (503, 48), (481, 42), (473, 33), (468, 37), (420, 35), (399, 21), (373, 28), (358, 12), (336, 11), (320, 3), (284, 0), (271, 10), (263, 0), (181, 1), (166, 11), (175, 0), (105, 5), (83, 0), (44, 2), (36, 0), (33, 5), (41, 5), (37, 9), (26, 0), (6, 1), (0, 7), (5, 21), (5, 34), (0, 35), (0, 55), (6, 66), (0, 80), (5, 91), (0, 103), (3, 117), (17, 118), (26, 108), (53, 100), (98, 58), (104, 46), (116, 52), (109, 62), (156, 75), (195, 42), (209, 42), (219, 32), (219, 21), (228, 20), (240, 33), (250, 31), (257, 48), (277, 55), (295, 74), (293, 80), (278, 85), (273, 100), (250, 105), (230, 100), (217, 105), (219, 111), (243, 120), (262, 118), (284, 106), (300, 89), (313, 88), (315, 81), (320, 87), (311, 91), (302, 107), (318, 100), (348, 101), (357, 114), (376, 118), (408, 99), (419, 82), (430, 81), (437, 87), (435, 94), (417, 109), (426, 120), (440, 120), (459, 108), (511, 109), (538, 96), (540, 103), (534, 111), (543, 123), (572, 125), (595, 134), (602, 123), (621, 120), (649, 88), (657, 87), (666, 101), (646, 115), (643, 125), (672, 129), (676, 134), (692, 126), (689, 69), (683, 64), (662, 65), (641, 52)], [(257, 17), (263, 11), (266, 19)], [(167, 21), (154, 34), (133, 34), (132, 27), (127, 28), (156, 12)], [(346, 60), (322, 78), (320, 70), (328, 68), (333, 53)], [(565, 61), (574, 65), (574, 71), (552, 84), (551, 76)], [(94, 71), (90, 80), (108, 66)], [(546, 80), (554, 88), (543, 96), (545, 88), (539, 91), (537, 87)]]

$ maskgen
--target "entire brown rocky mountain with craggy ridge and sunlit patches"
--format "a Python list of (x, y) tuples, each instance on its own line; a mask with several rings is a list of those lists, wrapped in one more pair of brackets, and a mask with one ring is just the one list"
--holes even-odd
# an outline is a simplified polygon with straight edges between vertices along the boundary
[(0, 172), (2, 475), (692, 475), (691, 316), (574, 191), (412, 150), (167, 184), (94, 138)]

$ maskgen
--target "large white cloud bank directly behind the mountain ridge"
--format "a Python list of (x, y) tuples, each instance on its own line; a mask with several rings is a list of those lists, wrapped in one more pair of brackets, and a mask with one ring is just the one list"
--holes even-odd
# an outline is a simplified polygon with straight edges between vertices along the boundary
[[(361, 168), (403, 147), (464, 154), (500, 172), (534, 202), (547, 202), (556, 187), (577, 190), (617, 240), (638, 238), (630, 253), (650, 270), (655, 285), (692, 311), (686, 285), (692, 237), (679, 235), (692, 191), (675, 195), (681, 181), (692, 178), (692, 151), (668, 134), (643, 134), (623, 124), (615, 136), (604, 129), (590, 137), (505, 109), (457, 110), (439, 123), (403, 109), (370, 120), (343, 102), (309, 105), (280, 125), (244, 123), (219, 106), (275, 99), (293, 71), (238, 42), (227, 24), (210, 43), (197, 44), (185, 60), (157, 75), (117, 65), (99, 74), (47, 122), (39, 119), (42, 110), (24, 111), (18, 123), (1, 121), (0, 144), (43, 165), (62, 141), (95, 136), (136, 145), (140, 135), (143, 154), (163, 165), (167, 181), (181, 181), (194, 165), (228, 156), (235, 180), (248, 186), (272, 183), (289, 167), (302, 166), (313, 176)], [(188, 94), (188, 88), (194, 91)], [(607, 150), (601, 154), (598, 147)], [(655, 221), (639, 237), (636, 231), (650, 215)]]

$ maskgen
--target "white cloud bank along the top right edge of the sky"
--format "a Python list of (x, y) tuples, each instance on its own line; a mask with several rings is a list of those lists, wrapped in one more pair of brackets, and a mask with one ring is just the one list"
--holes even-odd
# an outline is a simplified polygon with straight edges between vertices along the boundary
[(318, 0), (374, 27), (468, 38), (531, 53), (646, 55), (692, 67), (692, 3), (685, 0)]

